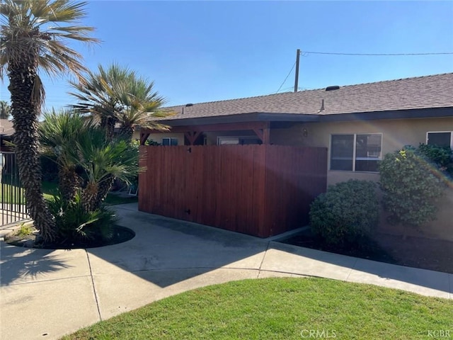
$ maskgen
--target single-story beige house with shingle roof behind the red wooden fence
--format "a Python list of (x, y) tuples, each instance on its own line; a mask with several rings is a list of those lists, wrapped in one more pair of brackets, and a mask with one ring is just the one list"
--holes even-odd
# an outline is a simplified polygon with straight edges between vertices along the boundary
[[(327, 148), (327, 184), (378, 181), (384, 154), (419, 143), (453, 148), (453, 73), (167, 108), (167, 145)], [(157, 131), (142, 130), (141, 142)], [(164, 140), (162, 140), (164, 141)], [(425, 234), (453, 240), (453, 189)]]

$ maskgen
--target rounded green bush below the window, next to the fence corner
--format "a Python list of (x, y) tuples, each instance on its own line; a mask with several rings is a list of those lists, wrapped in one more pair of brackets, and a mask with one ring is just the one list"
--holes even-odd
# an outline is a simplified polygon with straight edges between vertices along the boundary
[(329, 186), (310, 205), (311, 232), (327, 244), (360, 245), (379, 222), (372, 181), (349, 180)]

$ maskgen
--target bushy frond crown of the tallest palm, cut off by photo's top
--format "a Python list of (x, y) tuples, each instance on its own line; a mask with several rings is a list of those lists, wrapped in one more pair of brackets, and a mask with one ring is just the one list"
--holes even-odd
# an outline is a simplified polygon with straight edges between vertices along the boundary
[[(64, 26), (86, 16), (86, 2), (71, 0), (4, 0), (0, 6), (0, 77), (9, 63), (21, 64), (30, 51), (38, 58), (40, 69), (52, 76), (86, 71), (83, 57), (67, 46), (67, 41), (99, 42), (88, 26)], [(43, 28), (45, 23), (55, 26)]]

